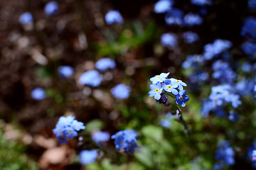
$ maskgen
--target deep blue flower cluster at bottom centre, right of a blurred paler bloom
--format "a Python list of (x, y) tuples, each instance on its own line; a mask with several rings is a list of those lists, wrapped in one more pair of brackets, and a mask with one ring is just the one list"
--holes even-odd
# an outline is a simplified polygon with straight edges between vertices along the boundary
[(133, 153), (134, 149), (137, 148), (136, 141), (139, 136), (134, 130), (121, 130), (112, 135), (111, 138), (114, 139), (114, 145), (117, 149)]

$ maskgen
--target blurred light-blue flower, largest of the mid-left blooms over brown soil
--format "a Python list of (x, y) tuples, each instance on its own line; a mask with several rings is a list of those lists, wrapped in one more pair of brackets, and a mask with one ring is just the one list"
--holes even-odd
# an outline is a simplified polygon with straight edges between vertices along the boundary
[(86, 84), (88, 86), (97, 87), (100, 86), (103, 77), (96, 70), (92, 69), (84, 72), (79, 79), (80, 84)]

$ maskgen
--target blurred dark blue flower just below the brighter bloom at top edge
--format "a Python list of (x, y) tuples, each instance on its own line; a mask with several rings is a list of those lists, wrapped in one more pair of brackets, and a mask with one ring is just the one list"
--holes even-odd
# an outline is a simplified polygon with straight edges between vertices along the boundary
[(166, 24), (171, 25), (183, 25), (183, 11), (178, 8), (171, 8), (165, 15)]

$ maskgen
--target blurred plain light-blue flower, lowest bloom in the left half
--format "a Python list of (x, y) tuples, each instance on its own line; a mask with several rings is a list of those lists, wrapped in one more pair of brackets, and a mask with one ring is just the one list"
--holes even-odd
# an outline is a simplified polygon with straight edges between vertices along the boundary
[(95, 162), (95, 159), (97, 158), (97, 150), (82, 150), (80, 152), (80, 163), (82, 165), (90, 164), (92, 162)]

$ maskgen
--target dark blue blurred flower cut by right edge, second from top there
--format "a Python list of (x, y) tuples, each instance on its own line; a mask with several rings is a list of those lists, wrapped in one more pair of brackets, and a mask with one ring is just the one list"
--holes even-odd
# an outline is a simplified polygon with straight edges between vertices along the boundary
[(240, 34), (242, 36), (250, 36), (251, 38), (256, 38), (256, 18), (249, 16), (245, 19), (242, 30)]

